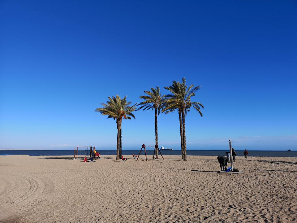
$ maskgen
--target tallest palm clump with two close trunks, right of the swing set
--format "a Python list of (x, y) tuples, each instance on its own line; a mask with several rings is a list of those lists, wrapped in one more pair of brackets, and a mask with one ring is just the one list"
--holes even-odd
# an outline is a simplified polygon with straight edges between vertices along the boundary
[[(181, 136), (181, 144), (182, 144), (182, 151), (183, 151), (183, 160), (187, 160), (187, 144), (186, 144), (186, 124), (185, 124), (185, 114), (189, 109), (193, 107), (196, 111), (199, 112), (200, 116), (202, 117), (202, 112), (200, 107), (204, 108), (203, 105), (199, 102), (192, 102), (191, 97), (195, 96), (195, 92), (199, 90), (201, 86), (190, 85), (187, 87), (186, 79), (182, 78), (182, 83), (179, 81), (173, 81), (172, 85), (169, 87), (165, 87), (166, 90), (169, 90), (171, 94), (165, 95), (167, 98), (166, 105), (162, 112), (171, 112), (177, 109), (179, 111), (179, 120), (181, 120), (180, 116), (182, 116), (182, 132), (183, 137)], [(181, 128), (181, 127), (180, 127)]]

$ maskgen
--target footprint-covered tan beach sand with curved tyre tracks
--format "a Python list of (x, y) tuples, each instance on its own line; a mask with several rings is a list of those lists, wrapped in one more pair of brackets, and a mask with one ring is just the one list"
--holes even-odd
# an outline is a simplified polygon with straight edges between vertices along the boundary
[(297, 222), (297, 157), (126, 157), (0, 156), (0, 222)]

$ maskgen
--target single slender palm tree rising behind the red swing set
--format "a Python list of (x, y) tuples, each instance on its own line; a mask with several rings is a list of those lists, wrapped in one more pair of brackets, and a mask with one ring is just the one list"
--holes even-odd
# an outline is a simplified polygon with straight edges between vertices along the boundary
[[(143, 102), (139, 103), (138, 105), (141, 105), (138, 109), (143, 109), (143, 111), (146, 109), (148, 111), (149, 109), (155, 109), (155, 145), (158, 146), (158, 115), (160, 114), (160, 110), (165, 102), (164, 95), (162, 96), (160, 92), (159, 86), (156, 88), (151, 88), (151, 91), (144, 91), (145, 94), (140, 96), (139, 98), (144, 99)], [(159, 159), (158, 150), (156, 150), (156, 159)]]

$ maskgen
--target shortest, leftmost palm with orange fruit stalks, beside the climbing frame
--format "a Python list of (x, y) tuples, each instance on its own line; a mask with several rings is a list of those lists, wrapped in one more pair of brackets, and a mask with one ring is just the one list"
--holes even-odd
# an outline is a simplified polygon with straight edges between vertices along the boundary
[[(97, 108), (95, 111), (100, 112), (102, 115), (107, 115), (107, 118), (113, 118), (116, 120), (117, 123), (117, 129), (118, 129), (118, 135), (117, 135), (117, 160), (119, 160), (119, 151), (120, 151), (120, 135), (121, 135), (121, 129), (122, 129), (122, 120), (123, 119), (131, 119), (135, 116), (132, 112), (136, 110), (136, 104), (133, 106), (129, 106), (131, 102), (127, 102), (126, 100), (127, 96), (124, 98), (120, 98), (120, 96), (116, 95), (115, 97), (108, 97), (109, 101), (106, 101), (105, 103), (101, 103), (103, 107)], [(122, 142), (121, 142), (122, 144)]]

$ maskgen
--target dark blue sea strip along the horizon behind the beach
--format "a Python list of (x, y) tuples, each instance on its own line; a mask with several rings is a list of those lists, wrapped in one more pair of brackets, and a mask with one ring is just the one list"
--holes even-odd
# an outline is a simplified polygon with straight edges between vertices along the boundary
[[(96, 150), (101, 155), (116, 155), (116, 150)], [(140, 150), (122, 150), (122, 155), (126, 157), (132, 154), (139, 154)], [(226, 155), (228, 150), (187, 150), (187, 155)], [(147, 155), (153, 156), (153, 150), (147, 150)], [(236, 150), (237, 156), (244, 156), (244, 151)], [(161, 150), (162, 155), (181, 155), (180, 150)], [(74, 150), (0, 150), (0, 155), (48, 155), (48, 156), (59, 156), (67, 155), (74, 156)], [(79, 150), (78, 155), (84, 156), (84, 150)], [(142, 150), (141, 155), (144, 155)], [(297, 157), (297, 151), (248, 151), (249, 156), (280, 156), (280, 157)]]

